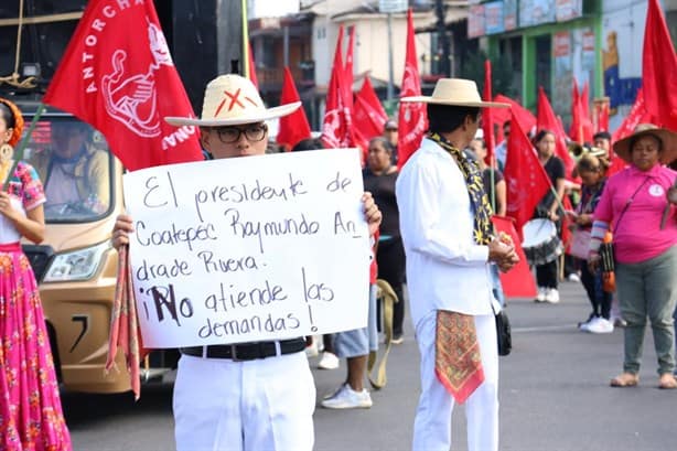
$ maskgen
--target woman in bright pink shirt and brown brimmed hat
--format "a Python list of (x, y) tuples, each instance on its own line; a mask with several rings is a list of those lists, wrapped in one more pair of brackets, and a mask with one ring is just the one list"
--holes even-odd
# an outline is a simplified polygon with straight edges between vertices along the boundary
[(630, 164), (612, 175), (594, 211), (589, 265), (600, 266), (599, 248), (613, 233), (616, 292), (624, 329), (623, 373), (613, 387), (640, 382), (644, 334), (651, 323), (658, 358), (658, 387), (677, 388), (673, 313), (677, 303), (677, 133), (642, 127), (613, 144)]

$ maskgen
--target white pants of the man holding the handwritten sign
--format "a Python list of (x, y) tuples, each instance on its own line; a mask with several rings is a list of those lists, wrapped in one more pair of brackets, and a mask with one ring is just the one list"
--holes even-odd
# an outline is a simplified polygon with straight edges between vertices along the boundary
[(249, 362), (183, 355), (174, 384), (179, 451), (310, 451), (315, 385), (305, 353)]

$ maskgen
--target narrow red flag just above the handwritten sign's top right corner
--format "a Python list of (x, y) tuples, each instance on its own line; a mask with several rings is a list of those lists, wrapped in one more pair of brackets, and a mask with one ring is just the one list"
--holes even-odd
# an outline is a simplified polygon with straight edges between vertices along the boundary
[(343, 25), (338, 26), (334, 65), (332, 66), (332, 76), (326, 92), (324, 121), (322, 124), (322, 142), (327, 148), (348, 148), (354, 146), (352, 111), (346, 105), (346, 80), (341, 53), (342, 49)]

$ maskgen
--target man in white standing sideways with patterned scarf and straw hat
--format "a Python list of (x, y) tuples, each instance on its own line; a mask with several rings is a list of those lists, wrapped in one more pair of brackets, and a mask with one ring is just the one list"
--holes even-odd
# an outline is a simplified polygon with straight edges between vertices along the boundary
[[(498, 355), (488, 265), (506, 271), (518, 259), (493, 236), (492, 208), (479, 168), (463, 149), (481, 126), (484, 103), (474, 82), (441, 78), (427, 104), (429, 130), (396, 184), (407, 257), (421, 395), (413, 450), (449, 450), (451, 412), (466, 404), (468, 448), (498, 449)], [(454, 356), (468, 358), (459, 359)], [(459, 378), (459, 375), (463, 375)]]

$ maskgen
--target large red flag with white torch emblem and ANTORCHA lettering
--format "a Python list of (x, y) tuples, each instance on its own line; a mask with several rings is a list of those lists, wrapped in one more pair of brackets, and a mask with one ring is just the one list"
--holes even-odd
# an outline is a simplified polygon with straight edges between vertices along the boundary
[(104, 133), (129, 170), (203, 159), (196, 127), (163, 120), (194, 115), (152, 1), (90, 1), (44, 101)]

